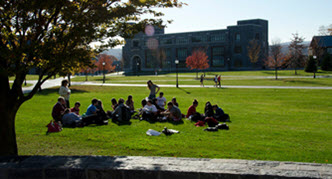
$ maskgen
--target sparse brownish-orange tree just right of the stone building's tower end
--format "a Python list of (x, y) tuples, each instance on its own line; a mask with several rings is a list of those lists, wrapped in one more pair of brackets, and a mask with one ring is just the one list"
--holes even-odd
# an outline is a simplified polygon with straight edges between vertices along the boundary
[(265, 65), (274, 68), (276, 80), (278, 79), (278, 68), (284, 64), (285, 56), (281, 52), (281, 44), (278, 41), (273, 41), (270, 46), (270, 53), (267, 59), (265, 60)]

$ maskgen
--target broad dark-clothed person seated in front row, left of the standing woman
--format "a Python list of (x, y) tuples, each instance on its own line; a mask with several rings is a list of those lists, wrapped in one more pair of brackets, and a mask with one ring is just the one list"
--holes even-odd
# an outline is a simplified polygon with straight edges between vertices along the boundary
[(128, 106), (124, 104), (124, 99), (120, 98), (118, 101), (118, 106), (112, 113), (112, 121), (113, 122), (124, 122), (130, 121), (131, 113)]

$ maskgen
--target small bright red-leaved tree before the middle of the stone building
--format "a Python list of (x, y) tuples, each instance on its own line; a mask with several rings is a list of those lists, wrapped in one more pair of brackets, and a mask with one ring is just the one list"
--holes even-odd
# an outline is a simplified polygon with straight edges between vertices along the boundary
[(204, 70), (209, 68), (209, 60), (207, 58), (208, 56), (203, 49), (194, 50), (191, 56), (187, 57), (187, 67), (190, 68), (190, 70), (197, 69), (196, 78), (198, 78), (199, 69)]

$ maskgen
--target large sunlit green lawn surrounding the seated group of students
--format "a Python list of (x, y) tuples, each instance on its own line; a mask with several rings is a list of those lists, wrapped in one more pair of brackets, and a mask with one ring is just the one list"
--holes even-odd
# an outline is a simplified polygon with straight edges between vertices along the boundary
[[(132, 94), (135, 107), (148, 95), (145, 87), (72, 86), (71, 104), (85, 111), (92, 98), (109, 110), (112, 97)], [(198, 111), (206, 101), (219, 104), (231, 116), (229, 131), (205, 132), (183, 124), (132, 120), (131, 125), (65, 128), (46, 135), (58, 89), (43, 90), (24, 103), (16, 119), (20, 155), (132, 155), (234, 158), (332, 163), (331, 90), (162, 88), (170, 100), (177, 97), (183, 113), (196, 98)], [(180, 131), (150, 137), (148, 129), (164, 126)]]

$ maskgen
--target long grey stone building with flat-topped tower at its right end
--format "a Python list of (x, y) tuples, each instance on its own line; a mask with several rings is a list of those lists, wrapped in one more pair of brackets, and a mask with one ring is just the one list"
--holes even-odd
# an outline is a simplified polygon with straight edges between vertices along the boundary
[[(261, 46), (255, 64), (248, 57), (251, 40), (257, 40)], [(172, 34), (147, 26), (145, 32), (125, 41), (122, 48), (125, 72), (174, 71), (175, 60), (179, 60), (179, 70), (189, 71), (185, 61), (195, 49), (203, 49), (208, 55), (208, 71), (258, 69), (268, 53), (268, 21), (241, 20), (227, 29)]]

